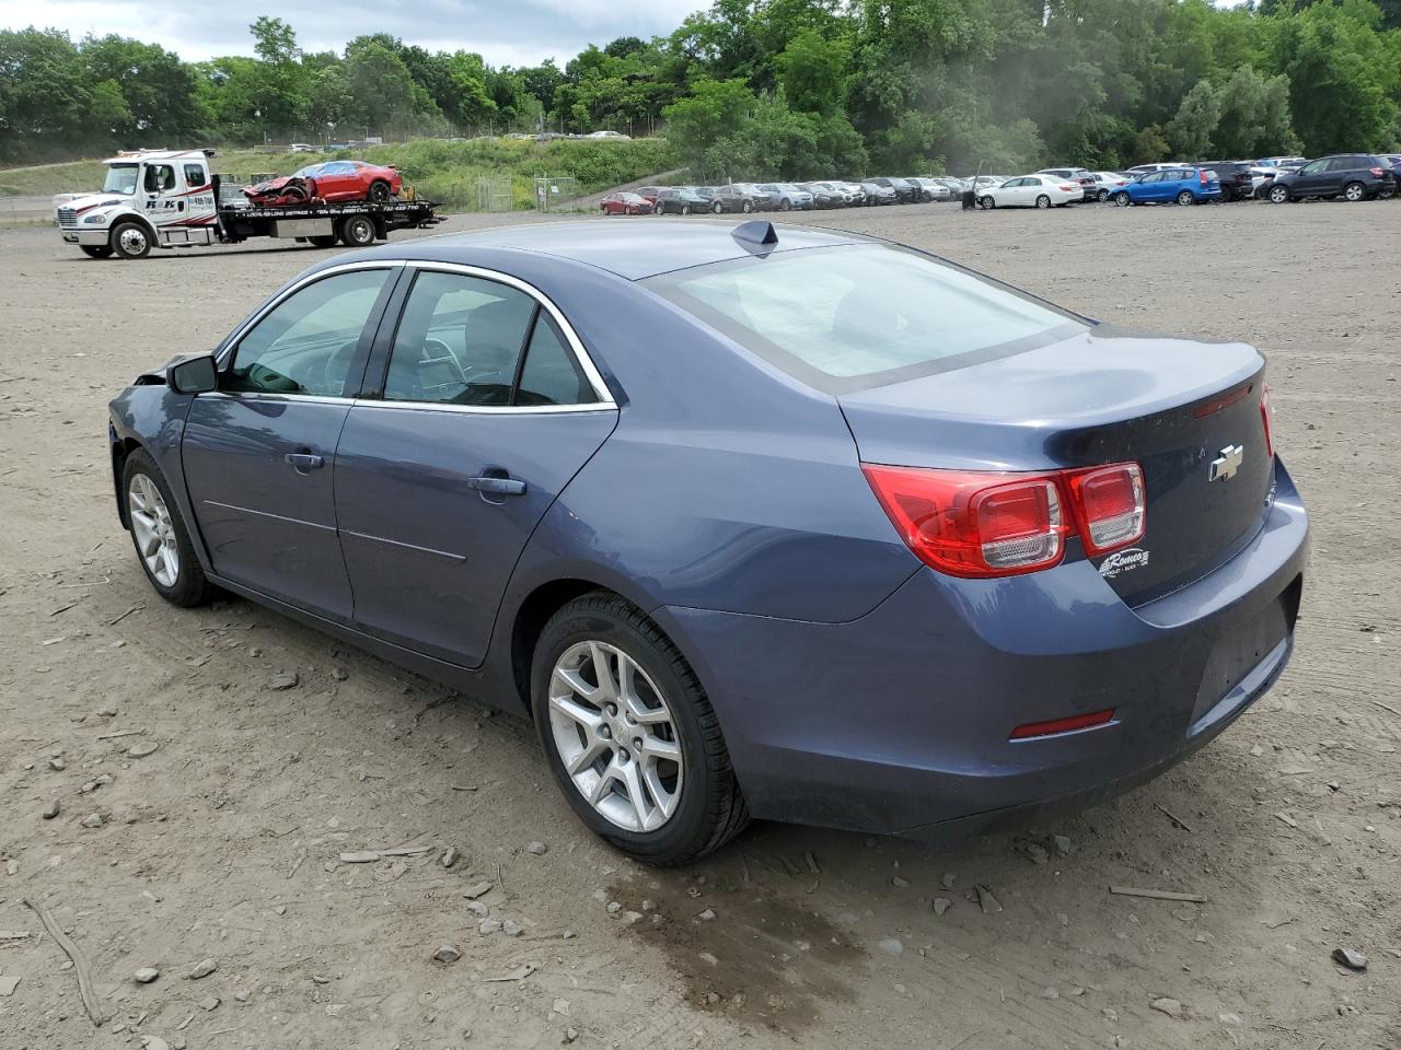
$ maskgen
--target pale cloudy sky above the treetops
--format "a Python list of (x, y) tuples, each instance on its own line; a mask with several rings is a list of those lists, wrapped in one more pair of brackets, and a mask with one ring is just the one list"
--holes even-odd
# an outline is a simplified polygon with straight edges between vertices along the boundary
[(133, 0), (0, 0), (0, 28), (67, 29), (160, 43), (188, 62), (251, 55), (259, 14), (287, 21), (303, 50), (340, 50), (353, 36), (388, 32), (429, 50), (475, 50), (493, 66), (563, 66), (588, 43), (670, 32), (709, 0), (332, 0), (332, 3), (134, 3)]

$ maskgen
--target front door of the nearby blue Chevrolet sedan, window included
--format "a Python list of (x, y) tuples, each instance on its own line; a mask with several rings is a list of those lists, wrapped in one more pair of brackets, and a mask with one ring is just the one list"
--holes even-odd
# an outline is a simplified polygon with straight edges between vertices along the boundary
[(216, 575), (349, 622), (336, 536), (336, 441), (398, 265), (350, 265), (296, 286), (221, 354), (181, 438), (185, 484)]

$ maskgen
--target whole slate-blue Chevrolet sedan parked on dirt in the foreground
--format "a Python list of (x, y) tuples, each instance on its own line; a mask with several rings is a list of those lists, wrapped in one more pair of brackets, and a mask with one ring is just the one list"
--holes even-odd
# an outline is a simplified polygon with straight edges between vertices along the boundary
[(883, 241), (539, 224), (338, 256), (111, 405), (118, 512), (534, 720), (618, 848), (950, 839), (1189, 755), (1293, 645), (1265, 363)]

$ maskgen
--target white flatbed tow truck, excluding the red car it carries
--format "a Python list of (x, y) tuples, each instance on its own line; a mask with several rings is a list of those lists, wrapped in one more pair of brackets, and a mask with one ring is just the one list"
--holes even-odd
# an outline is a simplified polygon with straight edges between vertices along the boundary
[(443, 221), (433, 202), (416, 199), (258, 206), (237, 183), (212, 171), (213, 157), (213, 150), (143, 150), (102, 161), (102, 192), (56, 209), (63, 239), (94, 259), (144, 259), (153, 248), (238, 244), (255, 237), (366, 248), (388, 239), (392, 230)]

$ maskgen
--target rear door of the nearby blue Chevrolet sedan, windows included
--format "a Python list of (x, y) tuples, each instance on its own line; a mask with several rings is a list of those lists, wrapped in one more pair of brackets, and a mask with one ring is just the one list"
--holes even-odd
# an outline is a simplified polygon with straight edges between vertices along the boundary
[(370, 364), (382, 388), (356, 402), (340, 435), (336, 517), (356, 624), (476, 666), (521, 550), (618, 410), (528, 286), (412, 269), (398, 328)]

